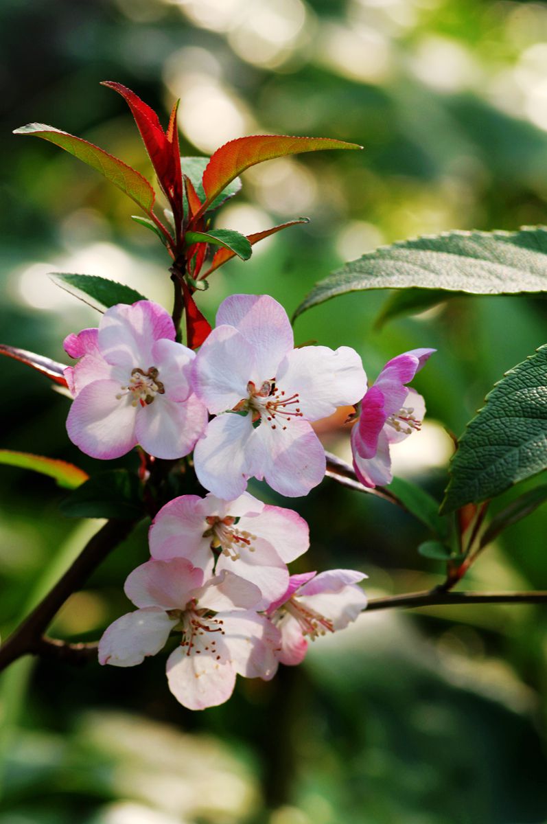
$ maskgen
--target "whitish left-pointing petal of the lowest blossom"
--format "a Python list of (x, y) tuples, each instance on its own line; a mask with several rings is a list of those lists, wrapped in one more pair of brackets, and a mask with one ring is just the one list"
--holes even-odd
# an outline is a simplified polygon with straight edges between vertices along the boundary
[(99, 663), (115, 667), (142, 663), (165, 646), (177, 620), (155, 606), (128, 612), (105, 630), (99, 641)]

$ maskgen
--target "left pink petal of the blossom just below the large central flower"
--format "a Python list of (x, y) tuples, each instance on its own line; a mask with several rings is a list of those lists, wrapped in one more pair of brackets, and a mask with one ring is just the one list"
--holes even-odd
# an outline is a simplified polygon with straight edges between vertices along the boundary
[(211, 556), (211, 539), (203, 538), (208, 524), (198, 509), (202, 500), (199, 495), (180, 495), (160, 509), (148, 532), (152, 558), (189, 558), (194, 566), (203, 567), (194, 560), (205, 553), (207, 559)]

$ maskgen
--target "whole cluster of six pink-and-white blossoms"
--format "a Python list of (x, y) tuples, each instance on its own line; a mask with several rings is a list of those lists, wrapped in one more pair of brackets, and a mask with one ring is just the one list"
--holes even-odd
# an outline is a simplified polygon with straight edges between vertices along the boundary
[(287, 564), (309, 546), (306, 522), (245, 489), (252, 477), (288, 497), (318, 485), (325, 452), (311, 423), (343, 405), (361, 407), (352, 431), (358, 477), (367, 486), (389, 482), (389, 444), (423, 418), (423, 399), (405, 384), (431, 349), (394, 358), (367, 389), (353, 349), (295, 349), (286, 312), (267, 295), (222, 302), (197, 355), (175, 341), (167, 312), (147, 301), (111, 307), (98, 329), (64, 345), (78, 358), (65, 371), (72, 441), (97, 458), (137, 444), (157, 458), (194, 451), (209, 490), (157, 513), (151, 558), (125, 583), (137, 609), (105, 631), (101, 663), (132, 667), (178, 634), (169, 686), (181, 704), (203, 709), (227, 700), (238, 673), (268, 680), (278, 662), (301, 662), (309, 639), (357, 618), (366, 576), (289, 574)]

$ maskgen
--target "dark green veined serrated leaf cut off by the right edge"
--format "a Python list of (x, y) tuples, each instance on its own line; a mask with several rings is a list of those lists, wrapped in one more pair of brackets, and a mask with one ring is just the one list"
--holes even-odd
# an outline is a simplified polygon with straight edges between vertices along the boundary
[(547, 468), (547, 345), (507, 372), (467, 424), (442, 511), (479, 503)]

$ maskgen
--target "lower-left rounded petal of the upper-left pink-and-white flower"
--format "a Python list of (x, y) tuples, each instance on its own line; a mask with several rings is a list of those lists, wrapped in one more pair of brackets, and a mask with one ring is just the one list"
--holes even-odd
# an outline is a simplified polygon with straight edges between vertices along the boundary
[(128, 396), (116, 398), (119, 391), (115, 381), (94, 381), (84, 386), (72, 402), (68, 437), (86, 455), (119, 458), (137, 445), (137, 410)]

